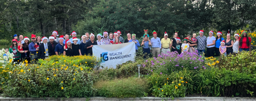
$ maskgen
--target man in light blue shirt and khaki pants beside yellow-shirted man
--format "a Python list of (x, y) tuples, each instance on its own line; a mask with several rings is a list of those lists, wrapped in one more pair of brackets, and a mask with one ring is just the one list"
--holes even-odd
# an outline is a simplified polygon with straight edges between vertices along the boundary
[(159, 54), (161, 54), (161, 40), (160, 38), (156, 37), (157, 36), (157, 33), (156, 31), (153, 31), (153, 36), (154, 38), (151, 38), (151, 45), (152, 45), (152, 54), (153, 54), (153, 57), (157, 57)]

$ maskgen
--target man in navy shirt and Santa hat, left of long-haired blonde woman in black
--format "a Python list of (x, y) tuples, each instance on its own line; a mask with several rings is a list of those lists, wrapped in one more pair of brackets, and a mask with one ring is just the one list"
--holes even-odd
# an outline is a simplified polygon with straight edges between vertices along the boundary
[(63, 37), (64, 37), (63, 35), (60, 35), (60, 38), (59, 38), (60, 43), (55, 46), (54, 52), (55, 52), (56, 55), (63, 54), (63, 52), (64, 52), (65, 44), (63, 43), (63, 40), (64, 40)]

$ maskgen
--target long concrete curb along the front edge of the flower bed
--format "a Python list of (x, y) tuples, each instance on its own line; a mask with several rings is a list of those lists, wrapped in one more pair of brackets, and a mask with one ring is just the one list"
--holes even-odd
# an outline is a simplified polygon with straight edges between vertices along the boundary
[[(14, 98), (14, 97), (0, 97), (0, 101), (11, 101), (11, 100), (56, 100), (56, 101), (77, 101), (77, 100), (86, 100), (87, 98), (85, 97), (69, 97), (69, 98), (53, 98), (53, 97), (46, 97), (44, 98), (32, 98), (32, 97), (27, 97), (27, 98)], [(161, 98), (161, 97), (135, 97), (135, 98), (116, 98), (116, 97), (90, 97), (89, 100), (172, 100), (172, 98)], [(256, 99), (255, 97), (174, 97), (174, 99), (185, 99), (185, 100), (192, 100), (192, 99)]]

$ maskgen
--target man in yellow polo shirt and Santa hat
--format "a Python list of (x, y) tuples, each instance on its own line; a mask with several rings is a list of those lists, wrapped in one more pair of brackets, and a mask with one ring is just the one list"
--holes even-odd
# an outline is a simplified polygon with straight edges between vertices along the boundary
[(167, 54), (167, 51), (170, 52), (171, 51), (171, 40), (168, 38), (168, 34), (166, 32), (164, 32), (164, 38), (161, 40), (162, 43), (162, 53), (163, 54)]

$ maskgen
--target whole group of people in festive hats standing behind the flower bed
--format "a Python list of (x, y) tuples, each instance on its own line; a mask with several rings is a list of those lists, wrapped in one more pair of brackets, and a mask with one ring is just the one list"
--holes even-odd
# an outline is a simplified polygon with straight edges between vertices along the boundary
[[(72, 38), (69, 39), (69, 35), (60, 35), (58, 38), (58, 32), (53, 31), (52, 36), (40, 37), (34, 34), (31, 35), (31, 43), (29, 43), (30, 39), (28, 37), (24, 37), (15, 34), (12, 40), (12, 46), (8, 49), (6, 48), (6, 52), (13, 53), (14, 62), (19, 62), (21, 60), (27, 60), (28, 62), (34, 63), (37, 59), (47, 59), (51, 55), (67, 55), (67, 56), (76, 56), (76, 55), (92, 55), (92, 47), (93, 45), (108, 45), (108, 44), (122, 44), (127, 42), (134, 42), (136, 53), (138, 52), (138, 47), (142, 47), (144, 59), (148, 54), (153, 54), (153, 57), (157, 57), (159, 54), (166, 54), (168, 51), (174, 52), (177, 51), (181, 54), (184, 51), (188, 51), (190, 53), (195, 52), (197, 46), (198, 55), (203, 54), (205, 52), (205, 48), (207, 50), (206, 54), (208, 57), (220, 55), (227, 55), (232, 53), (238, 53), (239, 51), (251, 50), (251, 38), (247, 36), (247, 32), (243, 31), (242, 36), (239, 34), (235, 34), (235, 40), (230, 39), (230, 33), (228, 31), (227, 39), (222, 38), (222, 32), (217, 33), (217, 37), (213, 36), (213, 31), (209, 32), (209, 37), (204, 36), (204, 31), (201, 30), (199, 32), (199, 36), (196, 37), (196, 33), (193, 34), (193, 37), (190, 38), (190, 35), (187, 35), (186, 38), (181, 40), (178, 37), (178, 32), (175, 32), (172, 39), (168, 38), (167, 32), (164, 33), (164, 38), (160, 40), (157, 37), (157, 32), (153, 31), (153, 38), (149, 40), (148, 30), (144, 29), (145, 34), (143, 35), (143, 40), (140, 44), (138, 40), (136, 40), (136, 34), (130, 34), (129, 31), (125, 31), (127, 34), (127, 39), (124, 40), (121, 37), (121, 31), (117, 31), (114, 33), (103, 32), (97, 34), (95, 39), (95, 35), (93, 33), (89, 34), (85, 33), (81, 37), (82, 40), (76, 37), (76, 32), (73, 31), (70, 36)], [(19, 40), (19, 41), (18, 41)], [(182, 42), (183, 41), (183, 42)]]

